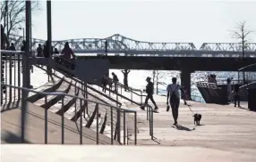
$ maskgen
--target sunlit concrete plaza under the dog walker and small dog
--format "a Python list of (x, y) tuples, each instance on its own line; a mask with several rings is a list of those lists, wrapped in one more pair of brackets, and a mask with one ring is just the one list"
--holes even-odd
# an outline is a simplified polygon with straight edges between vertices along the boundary
[(192, 112), (181, 101), (178, 122), (183, 129), (177, 130), (172, 127), (174, 121), (171, 111), (166, 112), (166, 103), (158, 102), (159, 113), (154, 113), (154, 141), (149, 137), (146, 111), (127, 105), (138, 110), (138, 144), (256, 150), (256, 112), (234, 108), (233, 105), (220, 106), (191, 101), (189, 104), (195, 113), (201, 113), (201, 126), (193, 125)]

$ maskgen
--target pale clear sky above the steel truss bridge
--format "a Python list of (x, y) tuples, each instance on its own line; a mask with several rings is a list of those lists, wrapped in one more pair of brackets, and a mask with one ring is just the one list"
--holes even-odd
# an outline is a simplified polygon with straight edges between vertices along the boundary
[[(47, 3), (32, 13), (33, 37), (47, 39)], [(53, 1), (53, 40), (114, 34), (151, 42), (238, 42), (230, 36), (246, 21), (256, 42), (256, 1)]]

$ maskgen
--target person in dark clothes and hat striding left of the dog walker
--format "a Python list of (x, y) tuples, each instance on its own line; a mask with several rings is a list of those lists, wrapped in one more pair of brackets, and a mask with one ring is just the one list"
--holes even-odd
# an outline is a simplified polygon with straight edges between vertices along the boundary
[[(147, 97), (146, 97), (146, 100), (145, 100), (145, 105), (148, 104), (148, 101), (150, 99), (150, 101), (152, 101), (152, 103), (154, 104), (155, 106), (155, 110), (158, 110), (158, 106), (156, 104), (156, 101), (154, 101), (154, 98), (153, 98), (153, 93), (154, 93), (154, 84), (151, 82), (151, 78), (150, 77), (147, 77), (146, 81), (148, 82), (148, 85), (146, 86), (146, 93), (147, 93)], [(141, 106), (141, 109), (145, 109), (144, 106)]]

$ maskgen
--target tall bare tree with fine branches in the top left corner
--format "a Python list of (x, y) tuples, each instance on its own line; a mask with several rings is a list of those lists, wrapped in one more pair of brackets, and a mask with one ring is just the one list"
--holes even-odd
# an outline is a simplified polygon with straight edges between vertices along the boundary
[[(38, 1), (31, 1), (31, 10), (39, 10)], [(25, 1), (7, 1), (7, 3), (6, 1), (1, 1), (1, 23), (3, 21), (5, 22), (2, 24), (4, 24), (3, 27), (6, 31), (7, 39), (9, 39), (10, 34), (17, 31), (18, 28), (21, 28), (22, 23), (25, 23), (25, 11)]]

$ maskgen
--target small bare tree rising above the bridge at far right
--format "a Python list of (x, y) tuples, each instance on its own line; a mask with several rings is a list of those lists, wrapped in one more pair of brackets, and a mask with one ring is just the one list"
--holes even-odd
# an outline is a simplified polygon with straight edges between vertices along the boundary
[(247, 48), (246, 43), (249, 41), (249, 35), (252, 33), (252, 30), (246, 27), (245, 21), (239, 22), (236, 25), (235, 30), (232, 31), (232, 35), (235, 39), (239, 39), (242, 43), (242, 54), (244, 59), (244, 50)]

